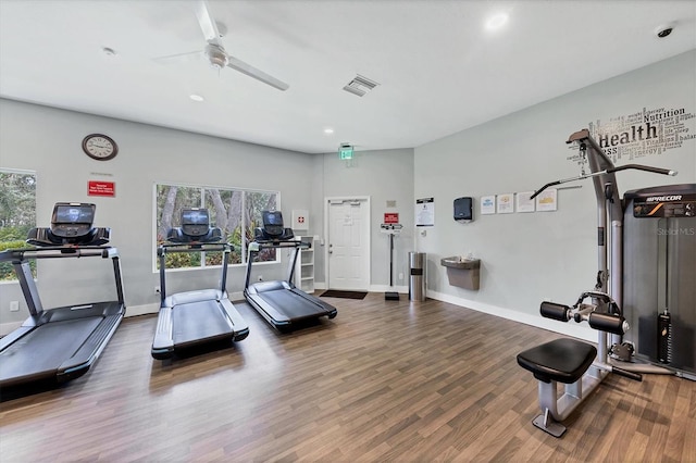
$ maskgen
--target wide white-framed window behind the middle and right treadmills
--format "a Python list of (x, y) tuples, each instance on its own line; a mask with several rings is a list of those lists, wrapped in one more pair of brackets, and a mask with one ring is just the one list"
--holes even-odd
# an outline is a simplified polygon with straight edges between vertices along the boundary
[[(278, 202), (277, 191), (157, 185), (157, 246), (165, 241), (170, 228), (181, 225), (182, 209), (207, 208), (211, 225), (220, 227), (227, 242), (234, 246), (229, 263), (244, 264), (247, 261), (247, 247), (253, 240), (253, 228), (261, 223), (261, 211), (275, 210)], [(257, 261), (275, 262), (275, 249), (260, 252)], [(221, 263), (220, 252), (181, 252), (166, 255), (167, 268), (204, 267)], [(159, 262), (157, 265), (159, 266)]]

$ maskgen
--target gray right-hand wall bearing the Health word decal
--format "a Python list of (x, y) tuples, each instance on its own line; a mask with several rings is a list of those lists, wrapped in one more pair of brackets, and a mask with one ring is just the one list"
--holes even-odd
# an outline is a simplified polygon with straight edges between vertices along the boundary
[[(609, 122), (643, 108), (696, 112), (696, 51), (583, 88), (560, 98), (418, 147), (415, 198), (435, 198), (435, 226), (415, 237), (428, 255), (428, 295), (502, 316), (537, 323), (545, 298), (574, 302), (591, 289), (597, 271), (596, 201), (591, 180), (558, 191), (557, 212), (481, 215), (481, 196), (533, 191), (580, 174), (567, 158), (568, 137), (588, 123)], [(582, 72), (582, 65), (579, 66)], [(521, 89), (523, 91), (523, 89)], [(686, 121), (688, 134), (696, 132)], [(617, 174), (619, 188), (696, 182), (696, 140), (660, 155), (630, 162), (669, 167), (676, 177)], [(475, 198), (475, 221), (452, 221), (452, 199)], [(472, 252), (482, 260), (481, 289), (450, 286), (439, 260)], [(557, 323), (557, 325), (560, 325)]]

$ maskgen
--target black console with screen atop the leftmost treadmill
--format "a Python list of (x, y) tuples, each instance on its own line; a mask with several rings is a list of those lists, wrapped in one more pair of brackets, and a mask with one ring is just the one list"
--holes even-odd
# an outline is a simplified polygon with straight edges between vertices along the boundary
[(96, 228), (96, 205), (84, 202), (57, 202), (50, 228), (32, 228), (26, 241), (46, 246), (102, 246), (111, 238), (110, 228)]

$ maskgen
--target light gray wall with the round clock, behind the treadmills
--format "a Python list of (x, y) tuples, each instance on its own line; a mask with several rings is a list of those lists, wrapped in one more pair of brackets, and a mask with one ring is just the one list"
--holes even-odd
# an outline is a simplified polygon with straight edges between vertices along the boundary
[[(80, 143), (90, 133), (114, 138), (119, 155), (108, 162), (87, 158)], [(310, 154), (0, 99), (0, 167), (37, 173), (39, 226), (49, 225), (57, 201), (97, 204), (96, 225), (112, 228), (112, 243), (121, 253), (130, 314), (138, 306), (157, 309), (159, 301), (154, 293), (159, 277), (152, 270), (154, 184), (278, 190), (289, 221), (293, 209), (311, 208), (308, 178), (313, 165)], [(115, 182), (115, 198), (87, 196), (89, 179)], [(61, 261), (39, 262), (38, 286), (46, 306), (113, 299), (110, 265), (98, 259), (77, 265)], [(259, 267), (264, 279), (272, 279), (285, 275), (287, 263)], [(231, 268), (227, 288), (233, 296), (239, 297), (244, 275), (244, 267)], [(76, 283), (82, 276), (85, 281)], [(175, 272), (167, 285), (185, 290), (210, 286), (217, 277), (215, 270)], [(0, 326), (24, 320), (27, 312), (18, 285), (0, 284)], [(9, 312), (12, 300), (21, 301), (20, 312)]]

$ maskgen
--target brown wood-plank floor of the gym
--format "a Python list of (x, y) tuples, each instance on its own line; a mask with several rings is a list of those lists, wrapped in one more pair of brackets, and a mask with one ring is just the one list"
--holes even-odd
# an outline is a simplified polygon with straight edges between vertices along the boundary
[(405, 299), (289, 335), (239, 302), (246, 340), (171, 365), (126, 318), (86, 376), (0, 403), (0, 461), (696, 462), (695, 383), (611, 376), (556, 439), (515, 355), (558, 335)]

